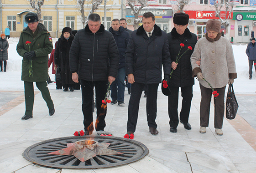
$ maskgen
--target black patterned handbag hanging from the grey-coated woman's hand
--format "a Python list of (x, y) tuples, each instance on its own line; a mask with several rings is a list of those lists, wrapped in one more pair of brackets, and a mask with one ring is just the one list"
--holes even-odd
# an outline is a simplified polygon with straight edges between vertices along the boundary
[(235, 92), (233, 89), (233, 85), (229, 85), (227, 100), (226, 100), (226, 118), (234, 119), (238, 110), (238, 103), (235, 98)]

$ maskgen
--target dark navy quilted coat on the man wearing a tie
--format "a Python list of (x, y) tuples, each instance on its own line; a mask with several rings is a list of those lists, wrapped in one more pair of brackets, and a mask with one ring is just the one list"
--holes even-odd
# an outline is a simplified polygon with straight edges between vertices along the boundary
[(143, 25), (133, 31), (125, 54), (125, 72), (133, 74), (135, 82), (161, 83), (162, 65), (164, 74), (171, 72), (167, 34), (157, 25), (154, 25), (151, 39)]

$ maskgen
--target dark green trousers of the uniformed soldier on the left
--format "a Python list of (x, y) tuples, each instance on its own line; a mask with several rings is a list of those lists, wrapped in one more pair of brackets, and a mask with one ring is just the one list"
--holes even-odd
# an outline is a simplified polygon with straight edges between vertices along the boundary
[[(42, 93), (42, 97), (44, 101), (47, 103), (48, 109), (52, 109), (54, 105), (52, 102), (49, 89), (47, 87), (47, 82), (46, 81), (36, 82), (36, 85), (37, 85), (37, 88)], [(25, 89), (25, 105), (26, 105), (25, 115), (33, 115), (33, 106), (34, 106), (34, 100), (35, 100), (33, 82), (24, 81), (24, 89)]]

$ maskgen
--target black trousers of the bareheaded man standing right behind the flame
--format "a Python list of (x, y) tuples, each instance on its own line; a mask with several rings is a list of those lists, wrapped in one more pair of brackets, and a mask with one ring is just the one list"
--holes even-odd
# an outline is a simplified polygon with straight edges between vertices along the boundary
[(106, 127), (106, 110), (104, 111), (104, 108), (101, 108), (101, 105), (102, 100), (104, 100), (105, 98), (109, 81), (85, 81), (80, 79), (80, 82), (82, 89), (82, 111), (84, 114), (84, 130), (88, 130), (87, 128), (93, 122), (94, 86), (96, 93), (97, 119), (99, 120), (95, 129), (96, 131), (104, 130), (104, 127)]

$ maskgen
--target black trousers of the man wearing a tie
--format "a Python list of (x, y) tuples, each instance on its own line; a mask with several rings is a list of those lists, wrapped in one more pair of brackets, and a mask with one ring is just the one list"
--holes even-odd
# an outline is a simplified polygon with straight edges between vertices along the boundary
[(157, 128), (157, 84), (143, 84), (133, 83), (131, 84), (131, 97), (128, 106), (128, 122), (127, 132), (135, 132), (136, 124), (138, 120), (138, 112), (141, 100), (141, 93), (144, 86), (147, 85), (147, 97), (146, 97), (146, 118), (147, 125), (149, 127)]

